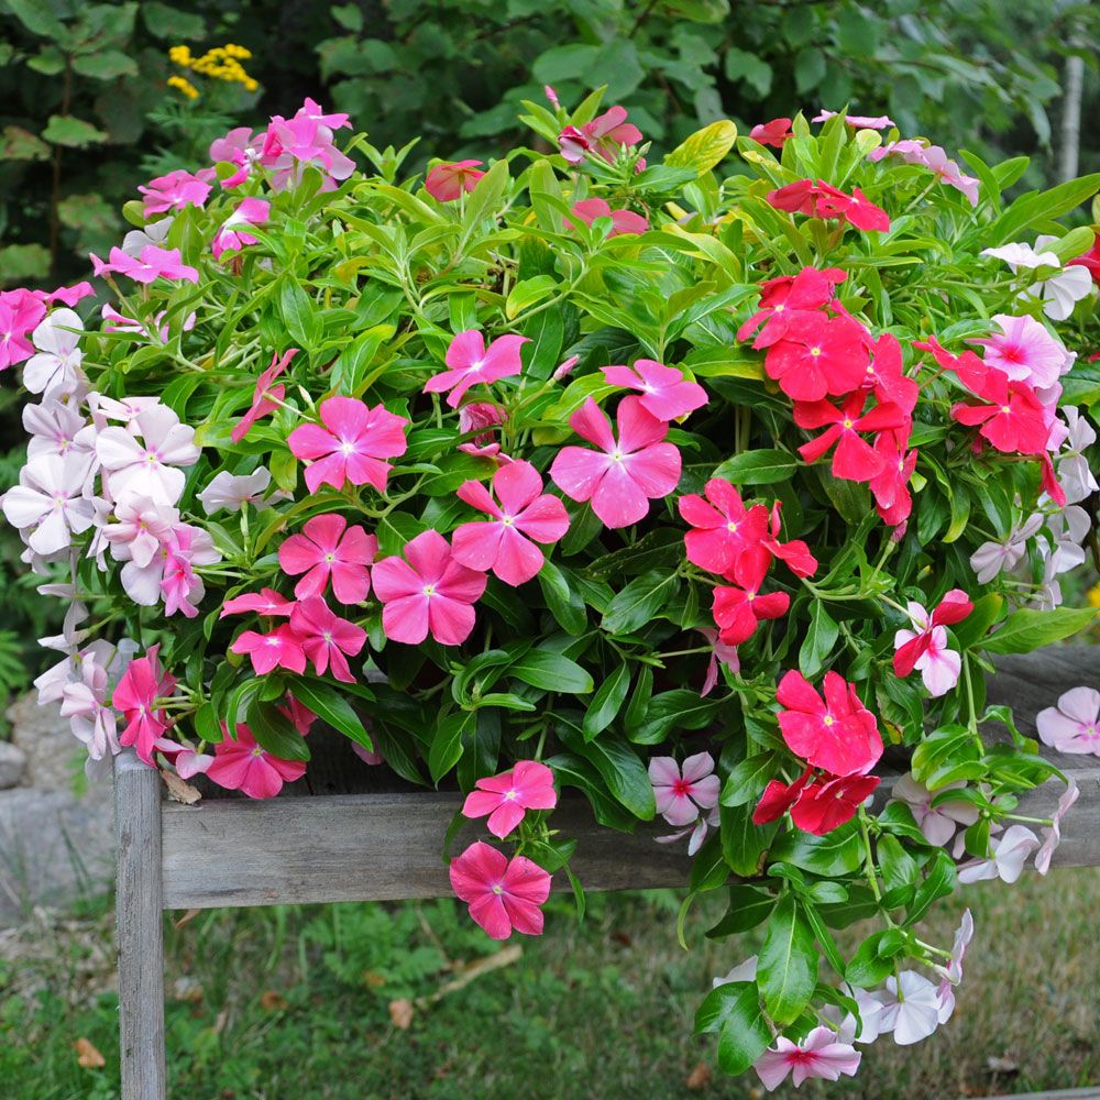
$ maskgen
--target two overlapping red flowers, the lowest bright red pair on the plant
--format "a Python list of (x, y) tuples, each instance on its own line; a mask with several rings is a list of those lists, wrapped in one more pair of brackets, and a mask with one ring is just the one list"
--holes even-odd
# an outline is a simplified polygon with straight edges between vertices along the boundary
[(790, 811), (799, 828), (824, 836), (855, 816), (879, 785), (878, 777), (868, 774), (882, 756), (875, 715), (860, 702), (855, 685), (836, 672), (825, 674), (824, 691), (822, 698), (793, 670), (780, 681), (779, 728), (806, 768), (793, 783), (773, 779), (765, 788), (752, 814), (757, 825)]

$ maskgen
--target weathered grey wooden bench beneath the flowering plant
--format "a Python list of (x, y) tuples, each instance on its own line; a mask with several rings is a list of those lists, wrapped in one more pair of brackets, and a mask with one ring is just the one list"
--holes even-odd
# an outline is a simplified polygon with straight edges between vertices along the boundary
[[(1003, 658), (989, 701), (1011, 705), (1020, 729), (1034, 735), (1035, 714), (1080, 684), (1100, 685), (1100, 647)], [(461, 795), (425, 791), (371, 768), (336, 735), (311, 735), (310, 744), (306, 777), (266, 802), (212, 788), (196, 805), (168, 802), (155, 770), (132, 751), (116, 759), (123, 1100), (165, 1096), (164, 910), (451, 893), (442, 845)], [(1100, 865), (1100, 759), (1057, 762), (1076, 779), (1081, 798), (1063, 826), (1054, 862)], [(880, 790), (888, 789), (889, 779)], [(1062, 791), (1052, 781), (1022, 798), (1020, 812), (1049, 816)], [(661, 822), (630, 835), (614, 833), (595, 824), (583, 799), (569, 795), (553, 820), (579, 842), (573, 866), (585, 889), (686, 882), (690, 860), (682, 847), (653, 843), (668, 832)], [(483, 833), (476, 823), (465, 831)]]

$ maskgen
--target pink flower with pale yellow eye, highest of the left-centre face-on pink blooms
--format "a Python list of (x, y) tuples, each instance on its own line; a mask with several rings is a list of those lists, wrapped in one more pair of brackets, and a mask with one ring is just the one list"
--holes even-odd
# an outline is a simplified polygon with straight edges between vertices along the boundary
[(304, 424), (287, 438), (295, 458), (312, 460), (306, 469), (309, 492), (326, 484), (340, 490), (349, 481), (385, 493), (389, 477), (385, 460), (405, 453), (408, 420), (383, 405), (367, 408), (355, 397), (330, 397), (321, 402), (320, 411), (323, 428)]

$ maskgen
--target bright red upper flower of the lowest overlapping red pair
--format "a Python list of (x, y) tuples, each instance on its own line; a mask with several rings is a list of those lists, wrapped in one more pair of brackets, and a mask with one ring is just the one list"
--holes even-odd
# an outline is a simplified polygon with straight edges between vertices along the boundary
[(866, 774), (882, 756), (875, 715), (859, 701), (854, 684), (825, 673), (825, 697), (793, 669), (779, 683), (779, 728), (788, 748), (814, 768), (834, 776)]

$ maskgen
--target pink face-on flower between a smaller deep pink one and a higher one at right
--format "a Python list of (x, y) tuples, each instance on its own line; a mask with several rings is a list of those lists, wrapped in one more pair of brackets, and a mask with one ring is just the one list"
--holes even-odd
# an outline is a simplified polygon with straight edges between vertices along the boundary
[(407, 542), (405, 558), (383, 558), (372, 570), (386, 637), (418, 646), (430, 632), (440, 645), (461, 645), (474, 628), (485, 574), (457, 561), (439, 531)]

